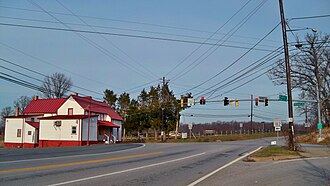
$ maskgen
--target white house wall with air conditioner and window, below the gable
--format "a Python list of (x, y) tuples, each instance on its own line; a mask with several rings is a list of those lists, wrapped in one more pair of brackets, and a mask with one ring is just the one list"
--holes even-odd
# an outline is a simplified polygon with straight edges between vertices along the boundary
[[(79, 140), (79, 119), (61, 120), (61, 126), (58, 127), (54, 126), (55, 121), (56, 120), (40, 120), (40, 140)], [(72, 134), (72, 126), (76, 126), (76, 134)]]

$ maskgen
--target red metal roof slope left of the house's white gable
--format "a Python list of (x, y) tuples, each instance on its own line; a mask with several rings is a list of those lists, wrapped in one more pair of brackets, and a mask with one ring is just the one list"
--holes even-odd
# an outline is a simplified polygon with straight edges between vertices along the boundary
[(24, 109), (23, 114), (35, 113), (57, 113), (57, 110), (67, 98), (51, 98), (51, 99), (37, 99), (32, 100), (30, 104)]

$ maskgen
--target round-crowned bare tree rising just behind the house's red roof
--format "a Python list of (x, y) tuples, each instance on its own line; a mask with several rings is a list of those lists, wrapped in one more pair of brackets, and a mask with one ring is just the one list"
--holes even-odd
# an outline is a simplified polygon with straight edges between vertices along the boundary
[(47, 76), (42, 84), (43, 94), (47, 98), (62, 98), (70, 91), (72, 82), (64, 74), (54, 73)]

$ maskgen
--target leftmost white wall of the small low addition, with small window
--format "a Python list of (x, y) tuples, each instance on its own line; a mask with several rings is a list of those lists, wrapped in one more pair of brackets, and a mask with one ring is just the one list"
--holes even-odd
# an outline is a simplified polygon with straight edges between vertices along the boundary
[[(23, 118), (7, 118), (5, 125), (5, 143), (23, 143)], [(17, 137), (17, 129), (21, 129), (21, 137)]]

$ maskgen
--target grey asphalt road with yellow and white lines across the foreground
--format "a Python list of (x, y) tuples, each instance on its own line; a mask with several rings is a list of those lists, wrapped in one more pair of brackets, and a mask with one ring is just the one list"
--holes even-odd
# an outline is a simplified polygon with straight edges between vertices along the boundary
[[(271, 138), (267, 138), (216, 143), (115, 144), (54, 149), (1, 149), (0, 185), (192, 186), (253, 185), (255, 183), (281, 185), (278, 184), (277, 179), (272, 179), (274, 177), (272, 177), (271, 171), (267, 172), (268, 177), (265, 177), (267, 182), (260, 181), (261, 178), (254, 179), (259, 173), (265, 172), (256, 166), (260, 164), (250, 163), (249, 166), (246, 166), (244, 162), (239, 161), (247, 153), (260, 146), (269, 145), (271, 140)], [(323, 159), (323, 161), (328, 160)], [(283, 172), (281, 166), (285, 167), (287, 164), (279, 163), (275, 165), (278, 167), (277, 169), (273, 169), (272, 166), (261, 167), (275, 170), (278, 173), (275, 176), (280, 176)], [(330, 166), (327, 169), (327, 164), (324, 162), (314, 164), (314, 166), (322, 165), (325, 166), (325, 172), (329, 171)], [(251, 166), (256, 167), (249, 171)], [(215, 170), (217, 171), (215, 172)], [(251, 173), (248, 174), (251, 177), (240, 176), (239, 172), (243, 170)], [(253, 172), (255, 174), (252, 174)], [(305, 173), (310, 174), (309, 171), (305, 171)], [(308, 185), (311, 182), (305, 180), (302, 183)]]

